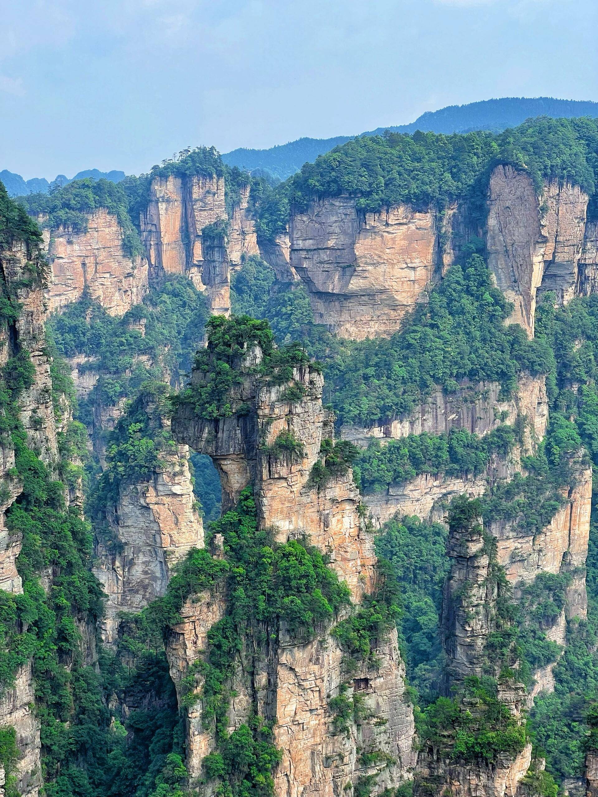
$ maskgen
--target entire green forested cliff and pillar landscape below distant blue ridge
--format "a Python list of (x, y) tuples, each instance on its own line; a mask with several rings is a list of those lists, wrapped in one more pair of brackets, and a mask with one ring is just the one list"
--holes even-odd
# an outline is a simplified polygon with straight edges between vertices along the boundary
[(597, 168), (545, 117), (0, 194), (6, 794), (596, 788)]

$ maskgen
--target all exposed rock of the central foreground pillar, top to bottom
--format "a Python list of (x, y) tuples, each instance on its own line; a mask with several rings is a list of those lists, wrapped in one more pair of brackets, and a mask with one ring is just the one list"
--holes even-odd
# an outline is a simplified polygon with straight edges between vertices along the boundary
[[(276, 375), (270, 379), (259, 374), (264, 363), (258, 346), (240, 355), (235, 369), (242, 379), (226, 397), (226, 417), (203, 418), (192, 400), (184, 402), (173, 418), (173, 434), (212, 457), (229, 506), (251, 482), (259, 528), (272, 528), (277, 542), (305, 538), (326, 552), (330, 566), (360, 603), (376, 588), (376, 559), (350, 469), (329, 473), (319, 489), (311, 475), (322, 461), (323, 444), (332, 446), (332, 418), (321, 404), (321, 375), (303, 363), (284, 381)], [(194, 371), (192, 385), (201, 390), (208, 378), (205, 371)], [(217, 554), (218, 539), (212, 547)], [(222, 617), (228, 600), (227, 595), (207, 594), (184, 607), (168, 652), (179, 689), (202, 658), (207, 630)], [(329, 630), (306, 642), (284, 625), (272, 627), (265, 642), (242, 650), (234, 672), (229, 729), (238, 728), (252, 710), (275, 722), (274, 743), (282, 756), (274, 771), (277, 795), (333, 797), (366, 781), (372, 794), (379, 794), (407, 778), (415, 763), (414, 725), (395, 630), (376, 642), (376, 665), (363, 661), (348, 673), (346, 654)], [(201, 678), (196, 683), (201, 689)], [(333, 698), (363, 706), (359, 719), (348, 720), (342, 732), (330, 705)], [(214, 749), (200, 704), (191, 709), (188, 734), (188, 765), (199, 777), (203, 756)], [(364, 755), (373, 751), (371, 759)]]

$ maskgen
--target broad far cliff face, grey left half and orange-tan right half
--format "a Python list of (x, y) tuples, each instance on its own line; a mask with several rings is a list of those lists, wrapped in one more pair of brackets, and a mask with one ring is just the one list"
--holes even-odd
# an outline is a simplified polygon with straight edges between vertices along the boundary
[(309, 290), (315, 320), (340, 336), (395, 332), (438, 276), (432, 211), (399, 205), (362, 215), (355, 198), (324, 198), (293, 214), (289, 232), (290, 266)]

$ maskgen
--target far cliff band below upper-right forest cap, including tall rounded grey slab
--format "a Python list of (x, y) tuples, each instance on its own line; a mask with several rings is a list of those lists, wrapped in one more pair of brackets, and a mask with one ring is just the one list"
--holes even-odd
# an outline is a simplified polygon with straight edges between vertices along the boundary
[[(291, 216), (290, 271), (309, 290), (317, 323), (360, 340), (390, 335), (426, 290), (458, 262), (472, 236), (486, 243), (498, 287), (513, 302), (513, 323), (533, 335), (537, 295), (554, 291), (567, 303), (596, 285), (596, 222), (588, 195), (547, 181), (538, 194), (529, 173), (498, 166), (490, 175), (487, 221), (466, 200), (443, 212), (388, 207), (360, 214), (348, 196), (314, 200)], [(264, 249), (284, 269), (281, 247)]]

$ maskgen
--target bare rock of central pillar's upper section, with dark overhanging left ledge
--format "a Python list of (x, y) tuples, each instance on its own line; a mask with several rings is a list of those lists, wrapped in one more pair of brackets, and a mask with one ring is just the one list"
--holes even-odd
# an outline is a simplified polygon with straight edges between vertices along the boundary
[[(254, 350), (246, 371), (259, 362)], [(256, 359), (257, 358), (257, 359)], [(194, 371), (191, 383), (203, 379)], [(214, 460), (222, 480), (222, 501), (234, 505), (241, 490), (253, 482), (263, 526), (276, 528), (278, 541), (308, 536), (322, 550), (329, 549), (332, 567), (346, 579), (353, 597), (371, 591), (375, 556), (372, 535), (364, 531), (356, 513), (359, 493), (350, 472), (332, 479), (318, 491), (309, 475), (318, 461), (323, 438), (332, 438), (332, 414), (321, 402), (323, 379), (309, 366), (296, 367), (293, 380), (305, 393), (300, 401), (285, 398), (286, 385), (264, 385), (248, 373), (233, 391), (233, 401), (249, 404), (250, 414), (207, 421), (191, 406), (181, 406), (172, 420), (176, 439)], [(278, 434), (301, 441), (301, 456), (273, 453)]]

